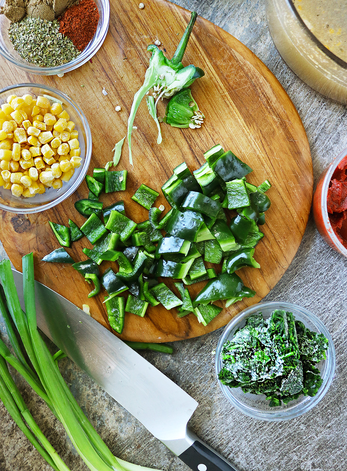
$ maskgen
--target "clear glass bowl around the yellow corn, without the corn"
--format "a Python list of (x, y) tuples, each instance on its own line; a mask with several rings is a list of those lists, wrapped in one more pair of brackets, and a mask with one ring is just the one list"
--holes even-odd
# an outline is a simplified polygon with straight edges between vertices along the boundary
[(0, 187), (0, 209), (19, 214), (29, 214), (33, 212), (45, 211), (61, 203), (80, 186), (87, 174), (91, 159), (91, 133), (87, 118), (81, 108), (76, 105), (65, 93), (48, 86), (38, 86), (34, 83), (22, 83), (11, 85), (0, 90), (0, 105), (6, 102), (9, 95), (22, 96), (26, 93), (37, 97), (38, 95), (50, 95), (63, 102), (63, 107), (75, 122), (75, 129), (78, 130), (78, 139), (81, 147), (81, 166), (75, 169), (73, 177), (68, 182), (63, 182), (63, 187), (59, 190), (46, 188), (42, 195), (35, 195), (32, 198), (16, 197), (11, 190)]

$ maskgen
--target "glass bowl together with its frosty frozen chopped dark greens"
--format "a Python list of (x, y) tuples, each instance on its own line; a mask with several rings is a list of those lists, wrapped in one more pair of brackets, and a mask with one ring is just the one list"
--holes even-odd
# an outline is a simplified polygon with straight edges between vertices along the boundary
[(222, 333), (216, 374), (231, 404), (250, 417), (292, 419), (312, 409), (333, 380), (335, 349), (317, 316), (287, 302), (243, 310)]

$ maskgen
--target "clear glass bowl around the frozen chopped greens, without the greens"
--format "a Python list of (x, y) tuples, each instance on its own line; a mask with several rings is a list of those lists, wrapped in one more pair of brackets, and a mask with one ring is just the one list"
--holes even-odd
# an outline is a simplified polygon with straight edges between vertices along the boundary
[(289, 302), (263, 302), (254, 304), (248, 309), (244, 309), (235, 316), (224, 329), (224, 332), (218, 341), (216, 350), (217, 378), (222, 367), (220, 352), (223, 344), (233, 338), (236, 329), (244, 327), (245, 321), (248, 317), (261, 312), (264, 318), (267, 319), (275, 309), (292, 312), (295, 319), (303, 322), (310, 330), (323, 333), (329, 341), (329, 346), (326, 352), (326, 360), (321, 361), (316, 366), (316, 368), (321, 372), (323, 383), (313, 398), (301, 395), (298, 399), (291, 401), (288, 404), (270, 407), (268, 405), (269, 401), (266, 401), (265, 399), (265, 395), (244, 393), (241, 388), (229, 388), (218, 380), (221, 390), (233, 406), (254, 419), (267, 420), (271, 422), (293, 419), (312, 409), (312, 407), (318, 404), (326, 394), (333, 380), (335, 371), (335, 349), (331, 335), (317, 316), (309, 312), (307, 309)]

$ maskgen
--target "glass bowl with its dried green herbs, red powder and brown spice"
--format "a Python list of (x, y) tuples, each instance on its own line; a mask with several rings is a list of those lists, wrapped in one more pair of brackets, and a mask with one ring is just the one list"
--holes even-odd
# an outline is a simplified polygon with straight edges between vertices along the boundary
[[(18, 9), (11, 16), (9, 3), (16, 4), (16, 0), (0, 0), (0, 13), (5, 13), (0, 15), (0, 54), (28, 73), (61, 75), (70, 72), (88, 62), (105, 41), (110, 20), (109, 0), (80, 0), (65, 9), (67, 1), (58, 0), (54, 5), (63, 6), (59, 16), (53, 10), (53, 13), (45, 10), (37, 18), (30, 16), (27, 10), (27, 16), (21, 21), (17, 21)], [(31, 0), (25, 3), (30, 4)]]

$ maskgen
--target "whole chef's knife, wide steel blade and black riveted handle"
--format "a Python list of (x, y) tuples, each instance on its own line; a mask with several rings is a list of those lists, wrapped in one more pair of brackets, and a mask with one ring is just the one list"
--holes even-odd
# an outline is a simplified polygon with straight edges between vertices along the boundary
[[(25, 309), (23, 275), (12, 271)], [(198, 403), (184, 390), (92, 317), (37, 281), (35, 297), (40, 329), (192, 470), (237, 471), (187, 428)]]

